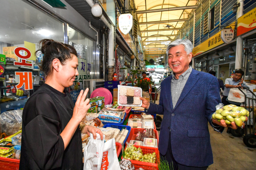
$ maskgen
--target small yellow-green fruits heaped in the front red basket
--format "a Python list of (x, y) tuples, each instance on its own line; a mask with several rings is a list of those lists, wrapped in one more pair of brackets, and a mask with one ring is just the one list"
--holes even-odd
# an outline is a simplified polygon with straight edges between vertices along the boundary
[(127, 147), (124, 152), (125, 159), (138, 160), (142, 162), (156, 163), (157, 155), (156, 152), (153, 153), (142, 153), (142, 150), (134, 147), (134, 145), (127, 143)]

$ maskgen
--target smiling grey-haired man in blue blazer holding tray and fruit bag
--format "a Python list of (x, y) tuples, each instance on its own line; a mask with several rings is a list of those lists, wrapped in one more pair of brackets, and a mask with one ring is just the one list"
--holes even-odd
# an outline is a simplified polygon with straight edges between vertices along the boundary
[(163, 114), (159, 152), (180, 170), (207, 169), (213, 163), (208, 122), (221, 133), (222, 126), (227, 126), (225, 121), (212, 121), (216, 105), (221, 103), (220, 87), (216, 77), (189, 66), (192, 49), (187, 39), (168, 45), (168, 65), (173, 75), (161, 83), (159, 105), (140, 98), (147, 113)]

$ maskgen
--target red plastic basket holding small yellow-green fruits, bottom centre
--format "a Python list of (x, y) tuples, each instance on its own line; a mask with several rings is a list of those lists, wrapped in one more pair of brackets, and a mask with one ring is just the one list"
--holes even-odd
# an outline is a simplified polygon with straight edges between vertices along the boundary
[[(142, 150), (143, 155), (146, 154), (146, 153), (156, 152), (157, 160), (159, 160), (158, 148), (142, 147), (142, 146), (136, 146), (136, 145), (134, 145), (134, 147), (136, 147), (136, 148), (140, 147), (140, 149)], [(121, 159), (123, 159), (123, 157)], [(141, 161), (138, 161), (138, 160), (131, 160), (131, 163), (134, 165), (135, 169), (143, 168), (145, 170), (148, 170), (148, 169), (149, 170), (155, 170), (155, 169), (158, 170), (158, 164), (157, 163), (141, 162)]]

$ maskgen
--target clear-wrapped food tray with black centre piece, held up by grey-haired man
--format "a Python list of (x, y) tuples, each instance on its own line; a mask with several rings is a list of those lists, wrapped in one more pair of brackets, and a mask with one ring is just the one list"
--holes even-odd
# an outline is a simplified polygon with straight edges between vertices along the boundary
[(117, 102), (119, 106), (141, 106), (142, 89), (140, 87), (118, 85)]

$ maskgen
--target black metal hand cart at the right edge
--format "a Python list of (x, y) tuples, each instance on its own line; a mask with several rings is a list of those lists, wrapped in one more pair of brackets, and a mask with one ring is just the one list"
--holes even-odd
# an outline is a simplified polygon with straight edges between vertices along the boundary
[[(241, 90), (246, 89), (252, 93), (252, 97), (249, 97)], [(249, 119), (245, 122), (245, 136), (243, 138), (244, 144), (250, 148), (256, 148), (256, 134), (255, 134), (255, 114), (256, 114), (256, 95), (248, 87), (239, 87), (239, 90), (244, 94), (244, 108), (250, 112)], [(254, 106), (255, 105), (255, 106)]]

